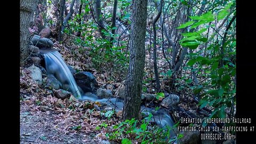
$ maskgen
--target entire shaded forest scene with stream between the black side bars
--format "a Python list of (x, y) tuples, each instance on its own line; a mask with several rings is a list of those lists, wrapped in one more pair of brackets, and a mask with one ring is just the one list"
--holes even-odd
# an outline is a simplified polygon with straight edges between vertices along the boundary
[(21, 0), (20, 55), (20, 143), (236, 143), (235, 1)]

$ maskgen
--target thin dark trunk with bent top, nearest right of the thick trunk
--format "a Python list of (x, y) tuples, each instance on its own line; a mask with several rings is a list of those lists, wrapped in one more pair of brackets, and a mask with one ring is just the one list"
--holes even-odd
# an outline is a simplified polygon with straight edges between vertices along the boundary
[(160, 82), (159, 82), (159, 75), (158, 75), (158, 69), (157, 69), (157, 56), (156, 56), (156, 22), (158, 21), (161, 13), (162, 13), (162, 6), (163, 6), (163, 1), (160, 2), (159, 5), (159, 11), (153, 20), (153, 59), (154, 59), (154, 71), (155, 71), (155, 78), (156, 78), (156, 89), (157, 92), (160, 90)]

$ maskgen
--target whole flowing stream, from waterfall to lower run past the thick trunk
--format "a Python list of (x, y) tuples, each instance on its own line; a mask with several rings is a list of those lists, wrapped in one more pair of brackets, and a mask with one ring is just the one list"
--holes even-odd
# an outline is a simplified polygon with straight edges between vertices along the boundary
[[(95, 94), (79, 91), (73, 75), (58, 51), (44, 52), (44, 57), (47, 77), (57, 78), (61, 83), (60, 85), (62, 86), (62, 89), (72, 92), (78, 99), (105, 102), (109, 107), (112, 107), (116, 111), (123, 109), (123, 100), (117, 98), (100, 99)], [(83, 95), (81, 95), (81, 93)], [(155, 122), (157, 125), (162, 127), (165, 127), (166, 125), (173, 127), (174, 125), (174, 120), (166, 109), (155, 110), (154, 108), (141, 106), (141, 110), (142, 113), (146, 115), (152, 113), (153, 119), (151, 121)], [(173, 131), (173, 129), (170, 131), (172, 137), (175, 136)]]

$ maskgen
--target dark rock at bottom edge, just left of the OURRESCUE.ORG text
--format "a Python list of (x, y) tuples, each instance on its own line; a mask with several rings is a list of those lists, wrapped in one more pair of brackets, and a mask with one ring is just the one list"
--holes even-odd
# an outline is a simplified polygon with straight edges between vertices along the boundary
[(188, 131), (181, 132), (183, 137), (179, 139), (181, 144), (196, 144), (200, 141), (200, 132), (199, 131)]

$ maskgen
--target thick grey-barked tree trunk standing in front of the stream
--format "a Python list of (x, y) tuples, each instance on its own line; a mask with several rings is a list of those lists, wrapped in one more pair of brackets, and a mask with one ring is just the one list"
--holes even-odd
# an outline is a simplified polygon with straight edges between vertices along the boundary
[(134, 0), (132, 4), (130, 63), (125, 82), (123, 119), (139, 119), (145, 65), (147, 3), (147, 0)]

